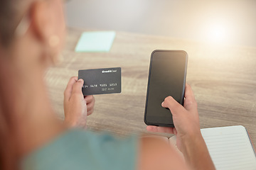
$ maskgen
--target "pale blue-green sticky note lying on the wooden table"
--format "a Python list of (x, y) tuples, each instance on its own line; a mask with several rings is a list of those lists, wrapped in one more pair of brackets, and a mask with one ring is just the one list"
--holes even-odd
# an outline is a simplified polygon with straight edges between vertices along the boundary
[(108, 52), (115, 38), (114, 31), (82, 33), (75, 52)]

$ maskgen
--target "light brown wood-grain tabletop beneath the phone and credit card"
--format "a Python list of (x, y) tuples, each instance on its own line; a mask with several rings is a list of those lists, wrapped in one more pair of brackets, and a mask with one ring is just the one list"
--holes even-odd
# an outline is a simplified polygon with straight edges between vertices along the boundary
[[(63, 62), (46, 74), (50, 98), (60, 118), (63, 91), (78, 69), (122, 67), (122, 94), (95, 96), (87, 125), (118, 135), (146, 132), (144, 105), (151, 52), (188, 52), (187, 82), (198, 101), (201, 128), (243, 125), (256, 144), (256, 48), (206, 44), (151, 35), (117, 32), (110, 52), (74, 52), (82, 30), (70, 28)], [(166, 134), (165, 134), (166, 135)]]

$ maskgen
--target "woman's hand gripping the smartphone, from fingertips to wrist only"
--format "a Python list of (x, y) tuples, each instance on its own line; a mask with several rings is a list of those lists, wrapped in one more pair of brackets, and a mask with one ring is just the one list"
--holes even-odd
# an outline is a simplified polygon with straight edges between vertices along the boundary
[(164, 108), (169, 108), (173, 115), (175, 128), (157, 127), (149, 125), (146, 127), (151, 132), (166, 132), (176, 135), (177, 147), (183, 152), (185, 142), (189, 142), (201, 136), (199, 116), (196, 99), (191, 86), (186, 84), (184, 106), (168, 96), (161, 104)]

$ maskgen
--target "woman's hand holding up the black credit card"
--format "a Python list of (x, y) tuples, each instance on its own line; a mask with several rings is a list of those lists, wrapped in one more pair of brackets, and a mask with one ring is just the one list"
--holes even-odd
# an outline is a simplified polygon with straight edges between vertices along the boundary
[(64, 91), (64, 122), (69, 127), (86, 128), (87, 115), (92, 114), (95, 106), (94, 96), (83, 96), (82, 85), (82, 79), (71, 77)]

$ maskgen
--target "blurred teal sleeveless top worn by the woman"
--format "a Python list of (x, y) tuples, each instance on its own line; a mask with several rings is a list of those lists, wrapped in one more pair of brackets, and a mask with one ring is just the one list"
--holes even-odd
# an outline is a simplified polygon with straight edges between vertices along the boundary
[(138, 138), (73, 129), (29, 154), (21, 162), (26, 170), (130, 170), (137, 166)]

